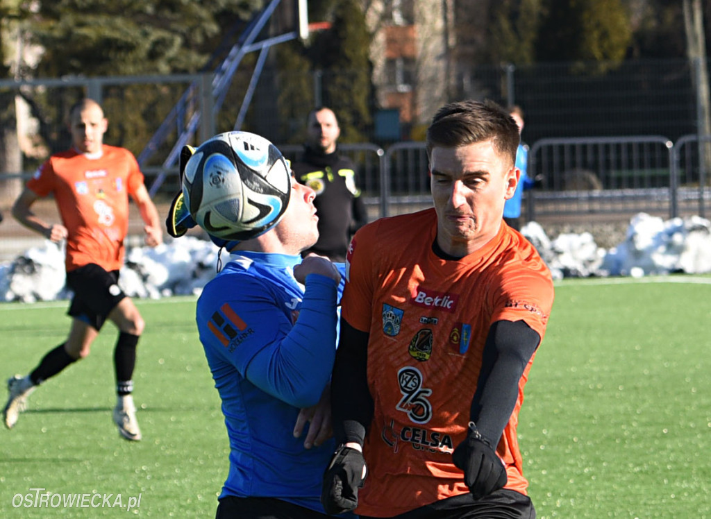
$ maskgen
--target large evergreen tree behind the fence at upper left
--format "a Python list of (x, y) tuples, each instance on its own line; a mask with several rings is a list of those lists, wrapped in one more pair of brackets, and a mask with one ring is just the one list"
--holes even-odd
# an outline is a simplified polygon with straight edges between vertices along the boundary
[[(26, 31), (44, 49), (34, 77), (95, 77), (196, 73), (214, 66), (210, 56), (225, 33), (246, 20), (259, 0), (53, 0), (21, 2)], [(244, 23), (244, 22), (242, 22)], [(186, 84), (117, 85), (102, 90), (109, 119), (107, 143), (139, 154), (186, 89)], [(85, 95), (77, 88), (28, 95), (46, 128), (63, 122)], [(29, 97), (31, 96), (31, 97)], [(64, 127), (43, 137), (51, 152), (64, 149)], [(166, 145), (167, 146), (167, 145)], [(154, 154), (161, 164), (166, 150)]]

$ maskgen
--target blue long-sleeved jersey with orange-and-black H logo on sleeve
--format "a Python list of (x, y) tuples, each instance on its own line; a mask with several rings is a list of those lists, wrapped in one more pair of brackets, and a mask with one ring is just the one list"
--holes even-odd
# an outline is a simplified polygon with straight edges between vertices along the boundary
[[(223, 496), (274, 497), (324, 512), (319, 501), (333, 440), (304, 449), (293, 430), (316, 404), (336, 353), (337, 287), (293, 267), (301, 257), (245, 252), (210, 281), (196, 320), (230, 439)], [(343, 276), (343, 264), (338, 266)]]

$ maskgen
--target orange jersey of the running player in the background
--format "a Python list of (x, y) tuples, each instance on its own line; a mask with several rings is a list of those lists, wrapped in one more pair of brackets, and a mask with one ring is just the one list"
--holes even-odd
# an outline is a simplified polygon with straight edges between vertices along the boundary
[(54, 194), (68, 230), (68, 272), (88, 263), (109, 271), (122, 267), (128, 196), (136, 193), (143, 179), (130, 151), (107, 145), (98, 159), (72, 149), (50, 156), (38, 168), (27, 187), (38, 196)]

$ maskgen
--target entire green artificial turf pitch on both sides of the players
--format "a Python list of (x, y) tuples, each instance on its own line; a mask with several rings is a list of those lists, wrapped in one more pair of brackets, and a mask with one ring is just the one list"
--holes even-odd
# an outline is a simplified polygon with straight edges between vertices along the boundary
[[(138, 300), (146, 320), (134, 398), (144, 439), (119, 438), (112, 352), (46, 382), (0, 429), (0, 517), (211, 518), (228, 441), (194, 298)], [(0, 304), (4, 380), (68, 331), (67, 301)], [(556, 286), (518, 428), (538, 518), (711, 518), (711, 278), (580, 279)], [(1, 393), (3, 402), (6, 393)], [(26, 508), (22, 496), (101, 494), (107, 506)], [(58, 498), (55, 498), (55, 500)], [(56, 501), (55, 501), (56, 502)]]

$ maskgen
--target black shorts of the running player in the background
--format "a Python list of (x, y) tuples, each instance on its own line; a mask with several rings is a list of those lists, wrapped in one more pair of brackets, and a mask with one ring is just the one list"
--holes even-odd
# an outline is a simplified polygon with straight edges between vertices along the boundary
[(111, 311), (126, 297), (118, 282), (118, 270), (107, 272), (94, 263), (67, 272), (67, 286), (74, 292), (67, 314), (100, 330)]

